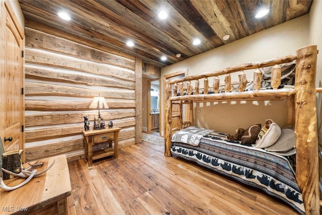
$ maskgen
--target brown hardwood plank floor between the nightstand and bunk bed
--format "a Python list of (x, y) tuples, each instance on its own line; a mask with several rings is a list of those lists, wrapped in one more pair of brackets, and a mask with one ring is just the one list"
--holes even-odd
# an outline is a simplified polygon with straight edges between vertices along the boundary
[(70, 214), (297, 214), (282, 201), (143, 142), (68, 163)]

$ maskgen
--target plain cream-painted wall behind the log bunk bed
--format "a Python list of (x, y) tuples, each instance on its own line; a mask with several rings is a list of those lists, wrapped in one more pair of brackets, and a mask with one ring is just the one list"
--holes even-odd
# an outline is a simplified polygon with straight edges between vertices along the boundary
[[(205, 73), (232, 65), (261, 61), (277, 56), (295, 54), (296, 50), (308, 44), (308, 20), (305, 15), (278, 26), (266, 29), (243, 39), (212, 49), (189, 59), (180, 61), (161, 70), (165, 76), (182, 69), (188, 74)], [(247, 73), (248, 80), (253, 77)], [(163, 79), (161, 79), (163, 81)], [(236, 81), (237, 76), (232, 77)], [(220, 77), (224, 82), (224, 77)], [(209, 79), (209, 83), (212, 80)], [(200, 82), (200, 86), (203, 83)], [(211, 85), (211, 84), (210, 84)], [(160, 83), (162, 92), (164, 84)], [(162, 107), (164, 107), (164, 98)], [(200, 113), (198, 110), (200, 109)], [(238, 127), (247, 128), (251, 124), (265, 123), (265, 119), (275, 120), (281, 127), (286, 126), (285, 101), (272, 102), (220, 102), (196, 104), (195, 125), (212, 128), (217, 131), (234, 133)], [(162, 112), (162, 130), (164, 130), (164, 112)]]

